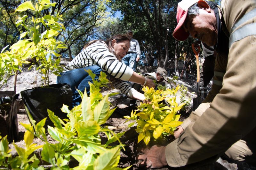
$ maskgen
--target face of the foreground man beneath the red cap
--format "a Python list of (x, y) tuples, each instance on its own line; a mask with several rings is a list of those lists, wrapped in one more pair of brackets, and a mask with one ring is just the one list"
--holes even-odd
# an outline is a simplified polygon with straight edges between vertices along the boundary
[(182, 27), (193, 38), (199, 39), (208, 46), (217, 43), (217, 21), (211, 9), (202, 8), (198, 16), (189, 15)]

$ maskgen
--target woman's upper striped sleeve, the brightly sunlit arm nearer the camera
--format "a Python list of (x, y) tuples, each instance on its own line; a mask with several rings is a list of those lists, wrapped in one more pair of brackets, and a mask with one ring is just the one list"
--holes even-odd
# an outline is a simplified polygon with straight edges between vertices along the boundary
[(109, 51), (106, 43), (97, 41), (86, 47), (85, 51), (103, 71), (111, 76), (125, 81), (132, 77), (133, 70), (118, 61), (116, 56)]

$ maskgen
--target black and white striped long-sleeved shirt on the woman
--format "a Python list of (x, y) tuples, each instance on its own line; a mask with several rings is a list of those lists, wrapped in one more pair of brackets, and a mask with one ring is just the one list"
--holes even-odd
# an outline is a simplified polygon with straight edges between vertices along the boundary
[(96, 41), (86, 47), (82, 52), (76, 55), (70, 63), (68, 63), (64, 70), (69, 71), (96, 64), (109, 75), (116, 79), (120, 79), (118, 81), (113, 81), (113, 83), (123, 94), (131, 97), (133, 92), (136, 91), (127, 83), (127, 80), (132, 77), (133, 70), (119, 62), (116, 56), (109, 51), (108, 46), (104, 41)]

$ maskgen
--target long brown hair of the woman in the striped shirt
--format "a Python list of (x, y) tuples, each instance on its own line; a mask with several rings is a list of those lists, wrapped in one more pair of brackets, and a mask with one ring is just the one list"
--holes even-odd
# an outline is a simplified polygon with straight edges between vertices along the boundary
[[(114, 48), (112, 47), (112, 40), (116, 40), (116, 43), (122, 42), (122, 41), (126, 41), (126, 40), (128, 40), (128, 41), (130, 42), (130, 41), (131, 41), (131, 38), (130, 38), (130, 36), (129, 36), (128, 34), (117, 34), (117, 35), (114, 35), (113, 37), (109, 38), (109, 39), (106, 40), (106, 41), (104, 41), (104, 40), (93, 40), (93, 41), (90, 41), (90, 42), (88, 42), (88, 43), (84, 46), (84, 48), (86, 48), (86, 47), (88, 47), (89, 45), (95, 43), (96, 41), (104, 41), (104, 42), (106, 42), (106, 44), (108, 45), (109, 51), (110, 51), (112, 54), (114, 54), (114, 55), (116, 56), (116, 58), (120, 61), (121, 58), (119, 58), (119, 57), (116, 55), (115, 50), (114, 50)], [(83, 49), (84, 49), (84, 48), (83, 48)]]

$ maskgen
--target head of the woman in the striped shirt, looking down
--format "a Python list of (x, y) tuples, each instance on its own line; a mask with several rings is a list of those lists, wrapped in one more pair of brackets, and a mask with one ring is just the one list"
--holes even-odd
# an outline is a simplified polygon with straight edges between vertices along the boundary
[(120, 61), (130, 48), (130, 37), (127, 34), (117, 34), (109, 38), (105, 42), (108, 44), (108, 48), (116, 58)]

